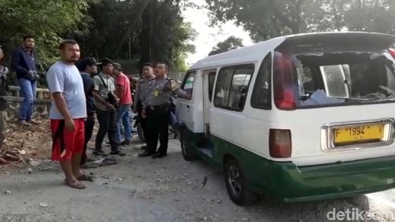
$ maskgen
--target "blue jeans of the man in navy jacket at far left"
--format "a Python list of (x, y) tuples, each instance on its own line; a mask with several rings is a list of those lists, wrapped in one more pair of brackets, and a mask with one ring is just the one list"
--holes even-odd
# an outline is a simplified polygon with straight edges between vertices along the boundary
[(33, 115), (33, 105), (37, 96), (37, 82), (21, 78), (18, 79), (18, 83), (23, 97), (18, 119), (28, 122), (31, 120), (31, 115)]

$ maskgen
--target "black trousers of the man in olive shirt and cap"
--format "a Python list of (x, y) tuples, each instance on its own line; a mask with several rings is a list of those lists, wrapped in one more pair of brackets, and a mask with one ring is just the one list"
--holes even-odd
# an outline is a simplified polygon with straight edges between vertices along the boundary
[(97, 121), (99, 122), (99, 130), (96, 135), (95, 151), (101, 151), (101, 145), (106, 134), (110, 140), (111, 152), (119, 151), (119, 145), (115, 141), (116, 112), (96, 109), (96, 116)]

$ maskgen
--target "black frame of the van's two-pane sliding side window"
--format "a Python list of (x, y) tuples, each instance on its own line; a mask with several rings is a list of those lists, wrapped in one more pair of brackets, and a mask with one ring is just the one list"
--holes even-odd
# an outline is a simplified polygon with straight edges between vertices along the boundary
[[(227, 103), (228, 103), (227, 106), (218, 106), (218, 105), (216, 105), (215, 99), (216, 99), (216, 97), (217, 97), (216, 94), (218, 93), (218, 92), (217, 92), (218, 78), (219, 78), (219, 74), (221, 73), (221, 70), (222, 70), (222, 69), (233, 69), (232, 81), (230, 82), (230, 85), (229, 85), (229, 89), (230, 89), (231, 86), (232, 86), (232, 83), (233, 83), (233, 77), (234, 77), (234, 74), (235, 74), (235, 70), (236, 70), (236, 69), (240, 69), (240, 67), (248, 67), (248, 66), (252, 66), (252, 73), (251, 73), (251, 76), (250, 76), (250, 80), (248, 81), (247, 92), (246, 92), (246, 100), (245, 100), (244, 103), (243, 103), (243, 107), (242, 107), (242, 108), (232, 108), (232, 107), (229, 107), (229, 96), (230, 96), (230, 92), (229, 92), (228, 99), (227, 99)], [(215, 88), (213, 89), (214, 98), (213, 98), (212, 103), (214, 104), (214, 107), (216, 107), (216, 108), (221, 108), (221, 109), (225, 109), (225, 110), (229, 110), (229, 111), (235, 111), (235, 112), (239, 112), (239, 113), (243, 112), (244, 108), (246, 107), (247, 97), (248, 97), (248, 91), (249, 91), (249, 89), (250, 89), (251, 80), (252, 80), (252, 78), (253, 78), (253, 76), (254, 76), (254, 72), (255, 72), (255, 64), (254, 64), (254, 63), (243, 63), (243, 64), (238, 64), (238, 65), (229, 65), (229, 66), (223, 66), (223, 67), (221, 67), (221, 68), (218, 70), (217, 77), (215, 78), (215, 84), (214, 84), (214, 85), (215, 85)]]

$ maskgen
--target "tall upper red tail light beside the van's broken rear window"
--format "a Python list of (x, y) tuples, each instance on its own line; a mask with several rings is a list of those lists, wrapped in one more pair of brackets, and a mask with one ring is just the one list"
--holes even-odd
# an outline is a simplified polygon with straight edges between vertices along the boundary
[(274, 54), (273, 62), (273, 97), (278, 109), (294, 110), (296, 108), (293, 68), (291, 60), (279, 52)]

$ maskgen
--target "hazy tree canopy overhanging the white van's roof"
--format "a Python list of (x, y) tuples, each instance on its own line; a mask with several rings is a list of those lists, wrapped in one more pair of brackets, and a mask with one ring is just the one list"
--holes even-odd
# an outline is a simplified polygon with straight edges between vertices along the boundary
[(234, 21), (260, 42), (301, 32), (359, 30), (394, 33), (389, 0), (206, 0), (212, 24)]

